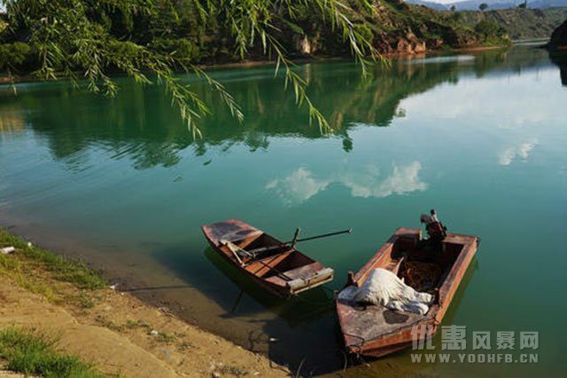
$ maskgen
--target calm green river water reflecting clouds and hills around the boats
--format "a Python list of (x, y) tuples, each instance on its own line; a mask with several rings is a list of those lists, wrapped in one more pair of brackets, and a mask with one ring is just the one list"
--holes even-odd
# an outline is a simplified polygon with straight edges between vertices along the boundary
[[(373, 78), (350, 62), (300, 69), (333, 135), (308, 124), (272, 67), (212, 72), (243, 125), (186, 78), (214, 105), (197, 140), (156, 86), (120, 79), (113, 100), (68, 83), (22, 83), (17, 97), (0, 87), (0, 224), (279, 364), (303, 360), (301, 374), (341, 374), (330, 292), (435, 208), (449, 231), (482, 239), (444, 324), (467, 327), (465, 352), (479, 352), (472, 332), (490, 331), (486, 352), (537, 363), (415, 363), (408, 350), (347, 360), (345, 374), (564, 376), (565, 64), (518, 46), (394, 59)], [(207, 248), (200, 225), (231, 217), (282, 240), (297, 226), (353, 233), (301, 244), (336, 278), (284, 302)], [(498, 331), (515, 333), (514, 350), (496, 349)], [(519, 349), (525, 331), (539, 332), (538, 350)], [(443, 352), (440, 336), (434, 345)]]

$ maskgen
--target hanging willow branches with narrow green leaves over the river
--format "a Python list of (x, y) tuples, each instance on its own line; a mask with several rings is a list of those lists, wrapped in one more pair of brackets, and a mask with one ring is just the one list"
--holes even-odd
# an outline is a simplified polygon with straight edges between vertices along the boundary
[[(352, 3), (352, 2), (351, 2)], [(138, 83), (149, 84), (155, 78), (165, 85), (184, 122), (194, 137), (200, 135), (198, 120), (211, 114), (206, 102), (191, 90), (190, 85), (175, 77), (182, 68), (202, 77), (242, 122), (244, 114), (235, 99), (191, 59), (177, 57), (149, 48), (144, 43), (117, 37), (107, 26), (107, 15), (120, 12), (125, 20), (143, 17), (151, 20), (168, 8), (175, 17), (175, 0), (4, 0), (12, 35), (25, 35), (27, 43), (37, 51), (38, 64), (34, 75), (40, 80), (70, 78), (74, 85), (86, 83), (89, 91), (114, 96), (117, 84), (109, 75), (119, 70)], [(322, 132), (330, 125), (307, 96), (306, 80), (278, 39), (277, 20), (297, 20), (299, 12), (316, 14), (350, 46), (353, 57), (361, 63), (362, 74), (380, 55), (371, 41), (354, 28), (346, 14), (350, 9), (338, 0), (186, 0), (201, 25), (214, 22), (229, 30), (234, 49), (244, 59), (252, 46), (261, 44), (264, 54), (276, 61), (276, 74), (282, 70), (285, 86), (290, 87), (298, 106), (307, 106), (310, 122), (318, 123)], [(360, 0), (357, 6), (372, 11), (370, 1)], [(7, 31), (4, 30), (4, 33)], [(9, 75), (14, 72), (6, 62)], [(84, 82), (83, 82), (84, 81)]]

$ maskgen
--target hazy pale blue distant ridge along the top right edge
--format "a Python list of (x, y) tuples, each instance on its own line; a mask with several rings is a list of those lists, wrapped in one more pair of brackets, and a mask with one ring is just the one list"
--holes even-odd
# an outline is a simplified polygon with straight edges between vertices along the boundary
[[(519, 4), (524, 4), (524, 0), (465, 0), (451, 4), (435, 3), (434, 0), (406, 0), (406, 2), (409, 4), (424, 5), (438, 11), (448, 11), (451, 9), (451, 6), (454, 6), (456, 11), (478, 11), (478, 6), (483, 3), (488, 4), (487, 11), (513, 9), (517, 8)], [(567, 7), (567, 0), (528, 0), (527, 3), (529, 9), (548, 9), (563, 6)]]

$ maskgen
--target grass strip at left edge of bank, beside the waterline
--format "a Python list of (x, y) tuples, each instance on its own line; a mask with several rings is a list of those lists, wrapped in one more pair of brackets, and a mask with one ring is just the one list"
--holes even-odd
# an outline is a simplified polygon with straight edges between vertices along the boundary
[(10, 255), (0, 254), (0, 273), (11, 277), (20, 287), (44, 295), (50, 302), (57, 301), (57, 289), (33, 273), (45, 272), (52, 279), (68, 282), (82, 290), (107, 286), (105, 280), (83, 262), (68, 260), (46, 249), (29, 245), (27, 241), (0, 228), (0, 248), (9, 246), (16, 248), (16, 251)]

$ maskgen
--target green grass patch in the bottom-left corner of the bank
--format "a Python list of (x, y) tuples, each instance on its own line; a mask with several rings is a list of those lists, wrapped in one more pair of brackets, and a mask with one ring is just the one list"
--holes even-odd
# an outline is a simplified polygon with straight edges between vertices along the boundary
[(50, 377), (104, 377), (81, 358), (59, 353), (57, 340), (35, 329), (7, 327), (0, 331), (0, 353), (4, 369), (22, 374)]

